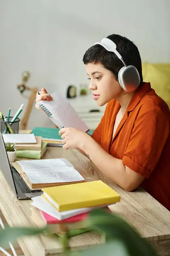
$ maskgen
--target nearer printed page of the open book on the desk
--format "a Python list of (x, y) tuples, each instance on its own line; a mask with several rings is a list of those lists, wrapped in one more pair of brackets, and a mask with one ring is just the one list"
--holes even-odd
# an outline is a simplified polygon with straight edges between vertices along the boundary
[(45, 183), (65, 183), (76, 182), (84, 180), (82, 175), (72, 167), (65, 167), (63, 169), (52, 169), (40, 172), (25, 172), (32, 184), (45, 184)]

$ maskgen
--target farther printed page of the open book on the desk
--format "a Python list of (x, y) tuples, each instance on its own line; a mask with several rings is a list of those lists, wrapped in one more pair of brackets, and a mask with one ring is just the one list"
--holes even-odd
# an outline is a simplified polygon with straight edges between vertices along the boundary
[(65, 158), (59, 159), (41, 159), (41, 160), (25, 160), (17, 161), (17, 163), (22, 167), (23, 172), (29, 170), (33, 171), (47, 171), (48, 169), (62, 169), (63, 167), (73, 167), (73, 165)]

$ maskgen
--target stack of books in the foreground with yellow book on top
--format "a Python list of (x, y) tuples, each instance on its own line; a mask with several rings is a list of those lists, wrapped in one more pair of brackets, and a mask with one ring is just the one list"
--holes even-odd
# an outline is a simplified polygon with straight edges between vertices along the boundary
[[(85, 220), (93, 209), (108, 208), (120, 201), (120, 195), (101, 180), (55, 186), (42, 189), (32, 198), (31, 219), (39, 227), (49, 227), (49, 233), (65, 236), (67, 231), (87, 229)], [(78, 233), (78, 234), (79, 234)]]

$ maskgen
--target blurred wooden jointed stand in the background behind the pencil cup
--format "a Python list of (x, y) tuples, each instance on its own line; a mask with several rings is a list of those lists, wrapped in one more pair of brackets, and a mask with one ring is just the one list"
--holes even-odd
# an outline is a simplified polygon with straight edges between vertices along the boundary
[[(29, 87), (27, 86), (27, 82), (31, 77), (31, 73), (29, 71), (24, 71), (22, 73), (22, 83), (17, 85), (17, 89), (20, 91), (20, 93), (22, 94), (23, 97), (25, 97), (26, 99), (28, 99), (28, 105), (26, 108), (26, 111), (24, 113), (24, 117), (21, 120), (21, 130), (25, 130), (26, 129), (26, 125), (28, 122), (28, 118), (30, 116), (31, 113), (31, 109), (34, 105), (35, 99), (36, 99), (36, 93), (38, 92), (38, 88), (37, 87)], [(29, 98), (27, 98), (26, 96), (24, 96), (24, 91), (25, 90), (30, 90), (31, 91), (31, 95), (29, 96)]]

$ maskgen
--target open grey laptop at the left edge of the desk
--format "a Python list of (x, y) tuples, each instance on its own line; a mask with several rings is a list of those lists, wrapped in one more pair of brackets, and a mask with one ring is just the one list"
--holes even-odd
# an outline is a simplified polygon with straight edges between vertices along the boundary
[(42, 190), (29, 189), (17, 170), (10, 165), (2, 134), (0, 134), (0, 171), (18, 199), (30, 199), (42, 194)]

